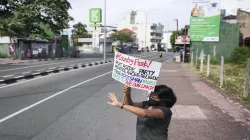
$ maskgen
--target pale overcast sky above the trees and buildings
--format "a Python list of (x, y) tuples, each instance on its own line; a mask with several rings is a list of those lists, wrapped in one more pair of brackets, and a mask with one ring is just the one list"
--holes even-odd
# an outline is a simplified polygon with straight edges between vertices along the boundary
[[(175, 30), (176, 22), (174, 19), (178, 19), (180, 29), (184, 27), (184, 25), (189, 24), (190, 11), (192, 8), (192, 0), (106, 1), (106, 23), (109, 26), (116, 26), (119, 19), (122, 18), (126, 12), (131, 10), (147, 12), (156, 9), (148, 14), (148, 23), (160, 22), (165, 26), (164, 30)], [(247, 11), (250, 11), (249, 1), (250, 0), (221, 0), (221, 8), (226, 9), (227, 14), (236, 14), (236, 8), (242, 8), (242, 10), (249, 8)], [(104, 8), (104, 0), (69, 0), (69, 2), (72, 6), (69, 13), (74, 18), (74, 21), (70, 22), (71, 26), (78, 22), (82, 22), (89, 26), (89, 9)], [(145, 17), (143, 17), (143, 14), (139, 15), (138, 19), (145, 23)], [(69, 30), (67, 30), (68, 34), (70, 34)], [(92, 27), (88, 27), (88, 30), (93, 29)]]

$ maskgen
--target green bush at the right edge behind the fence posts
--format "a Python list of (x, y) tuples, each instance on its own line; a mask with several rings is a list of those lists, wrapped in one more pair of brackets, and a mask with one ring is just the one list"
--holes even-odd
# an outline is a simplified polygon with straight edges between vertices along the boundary
[(232, 63), (246, 66), (247, 59), (250, 58), (250, 49), (248, 47), (235, 47), (231, 53), (230, 60)]

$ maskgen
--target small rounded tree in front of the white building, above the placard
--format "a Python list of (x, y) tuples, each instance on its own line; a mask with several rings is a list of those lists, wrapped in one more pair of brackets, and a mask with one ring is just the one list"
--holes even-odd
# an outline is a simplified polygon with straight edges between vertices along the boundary
[(124, 33), (121, 31), (116, 31), (109, 36), (110, 39), (113, 41), (118, 41), (121, 46), (123, 46), (123, 43), (133, 42), (133, 38), (130, 33)]

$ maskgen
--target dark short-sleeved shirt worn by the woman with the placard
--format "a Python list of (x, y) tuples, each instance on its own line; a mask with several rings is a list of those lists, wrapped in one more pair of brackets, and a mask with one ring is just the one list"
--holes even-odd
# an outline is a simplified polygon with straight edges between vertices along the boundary
[[(143, 108), (149, 106), (143, 102)], [(167, 107), (157, 107), (164, 113), (165, 119), (137, 117), (136, 140), (167, 140), (168, 126), (172, 117), (172, 111)]]

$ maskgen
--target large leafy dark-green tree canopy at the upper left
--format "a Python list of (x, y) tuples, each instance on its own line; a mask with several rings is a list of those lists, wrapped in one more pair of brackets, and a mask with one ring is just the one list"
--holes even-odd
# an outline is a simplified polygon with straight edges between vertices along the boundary
[(0, 35), (29, 37), (48, 36), (41, 24), (59, 34), (73, 18), (67, 0), (1, 0)]

